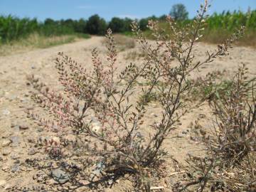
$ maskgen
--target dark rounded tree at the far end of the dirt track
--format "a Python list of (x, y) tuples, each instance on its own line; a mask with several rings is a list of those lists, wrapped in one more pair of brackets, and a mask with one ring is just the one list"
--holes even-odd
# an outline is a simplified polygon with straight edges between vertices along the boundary
[(100, 16), (93, 15), (87, 21), (86, 24), (87, 32), (94, 35), (104, 35), (107, 30), (107, 23), (104, 18)]

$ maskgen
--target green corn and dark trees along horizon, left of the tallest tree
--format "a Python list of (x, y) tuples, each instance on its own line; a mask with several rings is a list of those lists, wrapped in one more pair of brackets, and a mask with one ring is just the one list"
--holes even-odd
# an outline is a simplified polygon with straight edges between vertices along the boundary
[[(146, 30), (149, 19), (158, 19), (156, 16), (142, 18), (139, 24), (142, 30)], [(87, 20), (46, 18), (40, 22), (36, 18), (18, 18), (16, 16), (0, 16), (0, 42), (7, 42), (24, 38), (31, 33), (39, 33), (42, 36), (61, 36), (73, 33), (89, 33), (92, 35), (104, 35), (107, 28), (112, 28), (114, 33), (131, 31), (131, 18), (114, 17), (110, 22), (100, 18), (97, 14)]]

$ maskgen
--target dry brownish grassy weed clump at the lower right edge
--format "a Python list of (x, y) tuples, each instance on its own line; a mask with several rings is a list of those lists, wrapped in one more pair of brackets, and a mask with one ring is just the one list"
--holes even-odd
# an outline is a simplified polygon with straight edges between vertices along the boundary
[[(256, 102), (245, 65), (232, 80), (230, 94), (212, 100), (215, 131), (207, 139), (206, 156), (188, 159), (188, 178), (181, 190), (256, 190)], [(189, 190), (188, 190), (189, 191)]]

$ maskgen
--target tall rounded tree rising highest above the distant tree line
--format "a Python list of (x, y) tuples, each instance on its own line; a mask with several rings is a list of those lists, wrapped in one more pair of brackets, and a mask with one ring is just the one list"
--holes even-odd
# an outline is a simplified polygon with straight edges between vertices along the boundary
[(186, 11), (186, 6), (183, 4), (175, 4), (172, 6), (170, 15), (175, 21), (183, 21), (188, 19), (188, 11)]

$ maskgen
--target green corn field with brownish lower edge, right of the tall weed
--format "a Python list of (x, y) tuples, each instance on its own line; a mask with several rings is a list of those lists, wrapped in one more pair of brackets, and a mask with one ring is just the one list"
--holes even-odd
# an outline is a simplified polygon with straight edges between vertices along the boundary
[[(180, 28), (190, 28), (193, 24), (192, 19), (187, 19), (185, 21), (178, 21), (178, 26)], [(230, 13), (229, 11), (223, 11), (222, 14), (213, 14), (206, 20), (204, 36), (201, 41), (207, 43), (223, 43), (227, 38), (229, 38), (235, 31), (237, 31), (241, 26), (245, 26), (245, 36), (240, 38), (237, 42), (240, 46), (253, 46), (256, 45), (256, 10), (247, 11), (243, 13), (242, 11), (234, 11)], [(165, 32), (170, 34), (169, 26), (166, 25), (164, 21), (159, 21), (159, 28), (163, 29)], [(144, 31), (144, 35), (147, 38), (154, 39), (149, 31)]]

